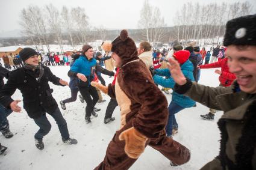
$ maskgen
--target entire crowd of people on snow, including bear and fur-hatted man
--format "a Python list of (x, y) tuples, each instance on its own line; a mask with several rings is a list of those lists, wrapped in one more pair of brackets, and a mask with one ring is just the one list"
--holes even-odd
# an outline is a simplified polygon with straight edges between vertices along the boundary
[[(196, 107), (198, 102), (210, 109), (208, 114), (201, 115), (204, 120), (214, 120), (216, 111), (223, 111), (217, 122), (221, 135), (219, 156), (202, 169), (256, 169), (255, 23), (256, 15), (229, 20), (223, 47), (208, 51), (196, 42), (183, 47), (174, 41), (172, 48), (162, 52), (152, 50), (146, 41), (136, 47), (125, 29), (111, 43), (102, 43), (105, 55), (95, 53), (92, 46), (85, 44), (81, 53), (73, 57), (49, 53), (40, 60), (36, 50), (24, 48), (19, 53), (22, 66), (11, 72), (0, 66), (0, 130), (5, 138), (13, 136), (7, 117), (21, 110), (20, 100), (11, 99), (19, 89), (23, 108), (40, 128), (34, 135), (39, 150), (43, 150), (43, 137), (51, 130), (46, 113), (58, 124), (62, 141), (77, 144), (69, 136), (66, 120), (48, 82), (69, 85), (71, 97), (60, 101), (61, 108), (66, 109), (66, 103), (74, 102), (79, 91), (81, 102), (86, 102), (86, 124), (93, 123), (92, 116), (98, 117), (95, 105), (103, 101), (101, 93), (111, 97), (105, 124), (115, 120), (113, 111), (117, 106), (120, 108), (119, 130), (108, 144), (104, 160), (95, 169), (128, 169), (147, 146), (160, 151), (171, 166), (178, 166), (188, 162), (191, 153), (173, 139), (178, 133), (175, 114)], [(50, 58), (54, 58), (54, 64), (70, 65), (69, 83), (52, 74), (47, 67), (52, 64)], [(201, 69), (205, 68), (220, 68), (214, 71), (219, 74), (219, 87), (198, 83)], [(114, 76), (113, 82), (106, 85), (101, 73)], [(5, 84), (4, 77), (8, 79)], [(172, 88), (169, 106), (159, 85), (162, 91)], [(6, 149), (0, 144), (0, 153)]]

